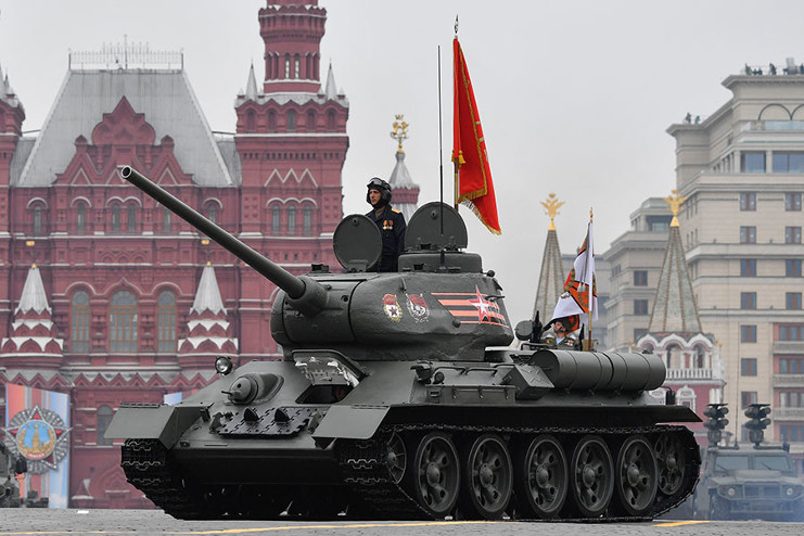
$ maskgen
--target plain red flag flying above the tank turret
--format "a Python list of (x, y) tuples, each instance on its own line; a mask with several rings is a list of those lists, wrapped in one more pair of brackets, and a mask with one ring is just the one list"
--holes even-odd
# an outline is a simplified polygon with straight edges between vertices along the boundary
[(495, 234), (500, 233), (497, 200), (494, 196), (492, 170), (488, 167), (486, 140), (472, 91), (472, 80), (461, 46), (452, 40), (455, 68), (455, 115), (452, 162), (455, 163), (456, 204), (463, 203)]

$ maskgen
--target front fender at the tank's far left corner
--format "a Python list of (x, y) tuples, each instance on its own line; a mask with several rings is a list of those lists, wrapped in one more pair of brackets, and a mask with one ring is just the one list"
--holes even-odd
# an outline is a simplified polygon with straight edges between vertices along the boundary
[(209, 404), (120, 404), (106, 429), (110, 439), (159, 439), (171, 448)]

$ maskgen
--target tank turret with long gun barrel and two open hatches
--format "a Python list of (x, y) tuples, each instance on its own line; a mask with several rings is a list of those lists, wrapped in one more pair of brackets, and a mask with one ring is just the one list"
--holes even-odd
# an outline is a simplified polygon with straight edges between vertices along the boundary
[[(379, 229), (352, 215), (334, 233), (344, 273), (321, 266), (294, 276), (232, 237), (129, 166), (120, 176), (282, 289), (271, 310), (271, 335), (293, 350), (327, 347), (352, 359), (422, 358), (482, 361), (487, 346), (513, 339), (501, 289), (467, 246), (458, 213), (430, 203), (408, 226), (399, 271), (366, 271), (379, 258)], [(444, 229), (442, 231), (442, 228)]]

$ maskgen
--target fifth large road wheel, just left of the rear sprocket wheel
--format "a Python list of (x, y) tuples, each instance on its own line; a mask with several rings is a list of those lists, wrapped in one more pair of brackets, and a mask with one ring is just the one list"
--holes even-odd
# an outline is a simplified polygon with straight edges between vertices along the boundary
[(656, 499), (659, 469), (648, 439), (641, 435), (628, 437), (617, 455), (616, 488), (620, 503), (630, 515), (650, 512)]

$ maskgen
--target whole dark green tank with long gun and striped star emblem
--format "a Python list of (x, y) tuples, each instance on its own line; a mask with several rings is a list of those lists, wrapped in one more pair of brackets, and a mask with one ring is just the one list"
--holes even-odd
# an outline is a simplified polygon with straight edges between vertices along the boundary
[(381, 239), (355, 215), (333, 239), (345, 270), (295, 277), (120, 174), (283, 290), (270, 320), (283, 360), (218, 359), (207, 387), (123, 404), (106, 431), (126, 439), (128, 481), (171, 515), (649, 519), (693, 490), (699, 448), (677, 423), (699, 419), (648, 394), (661, 359), (508, 347), (502, 289), (461, 251), (452, 208), (417, 212), (398, 272), (366, 271)]

